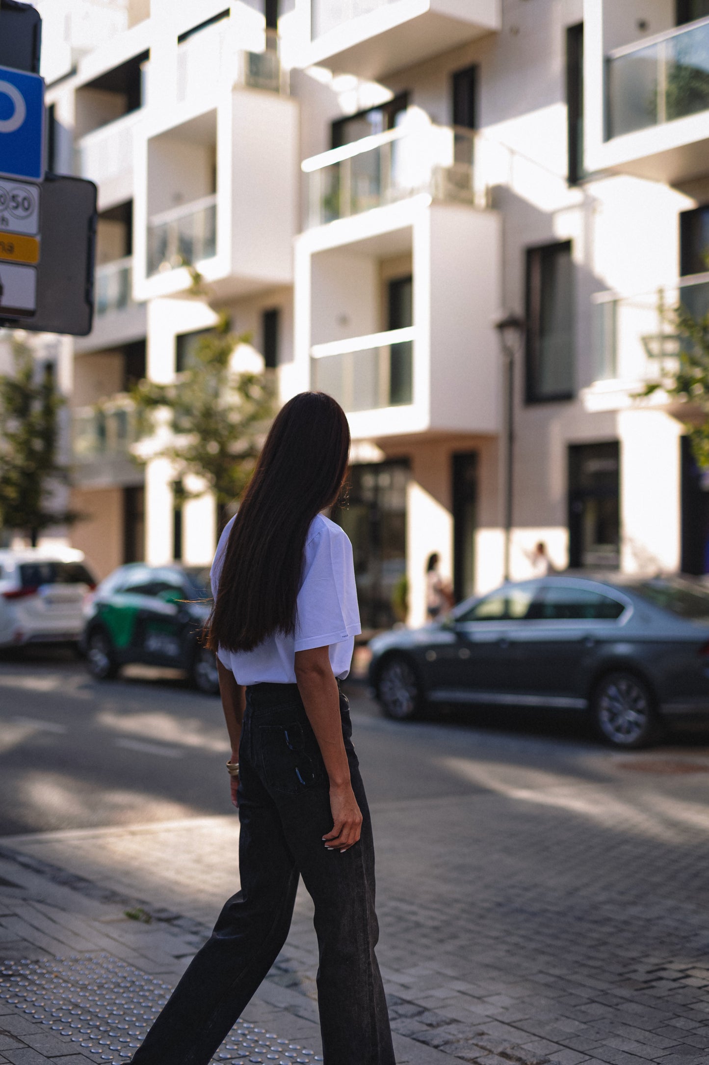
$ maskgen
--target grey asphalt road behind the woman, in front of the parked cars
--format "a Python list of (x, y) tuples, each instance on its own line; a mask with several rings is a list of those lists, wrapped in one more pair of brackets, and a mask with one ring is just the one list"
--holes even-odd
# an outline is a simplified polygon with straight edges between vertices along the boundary
[[(462, 711), (399, 724), (361, 688), (351, 686), (350, 699), (371, 803), (475, 793), (479, 783), (451, 768), (456, 756), (554, 766), (579, 782), (619, 757), (578, 722), (548, 715)], [(699, 754), (709, 732), (671, 743)], [(48, 650), (0, 659), (0, 835), (230, 813), (227, 755), (218, 698), (176, 676), (134, 667), (100, 683), (69, 653)]]

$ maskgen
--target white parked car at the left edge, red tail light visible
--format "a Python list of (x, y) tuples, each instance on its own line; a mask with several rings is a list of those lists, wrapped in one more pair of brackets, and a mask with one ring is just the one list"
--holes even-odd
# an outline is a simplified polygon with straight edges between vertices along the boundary
[(80, 551), (0, 551), (0, 646), (78, 641), (95, 588)]

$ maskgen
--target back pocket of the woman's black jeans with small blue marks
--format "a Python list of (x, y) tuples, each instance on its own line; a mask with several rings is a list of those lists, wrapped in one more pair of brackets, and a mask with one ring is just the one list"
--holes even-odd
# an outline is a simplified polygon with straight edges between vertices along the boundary
[(259, 725), (266, 783), (274, 791), (298, 794), (326, 780), (325, 765), (313, 730), (293, 721)]

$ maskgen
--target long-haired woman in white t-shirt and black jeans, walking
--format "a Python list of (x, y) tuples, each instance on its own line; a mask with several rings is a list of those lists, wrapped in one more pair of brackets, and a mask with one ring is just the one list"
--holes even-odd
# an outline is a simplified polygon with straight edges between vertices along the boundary
[(212, 568), (209, 645), (232, 744), (241, 890), (224, 904), (133, 1058), (206, 1065), (290, 928), (299, 875), (315, 903), (325, 1065), (393, 1065), (374, 954), (374, 848), (339, 690), (360, 632), (337, 499), (350, 430), (318, 392), (280, 411)]

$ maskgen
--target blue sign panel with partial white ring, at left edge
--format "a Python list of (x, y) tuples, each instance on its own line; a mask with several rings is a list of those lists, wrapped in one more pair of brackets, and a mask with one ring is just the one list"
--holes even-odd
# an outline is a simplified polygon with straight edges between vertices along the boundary
[(0, 174), (41, 181), (44, 145), (44, 79), (0, 67)]

